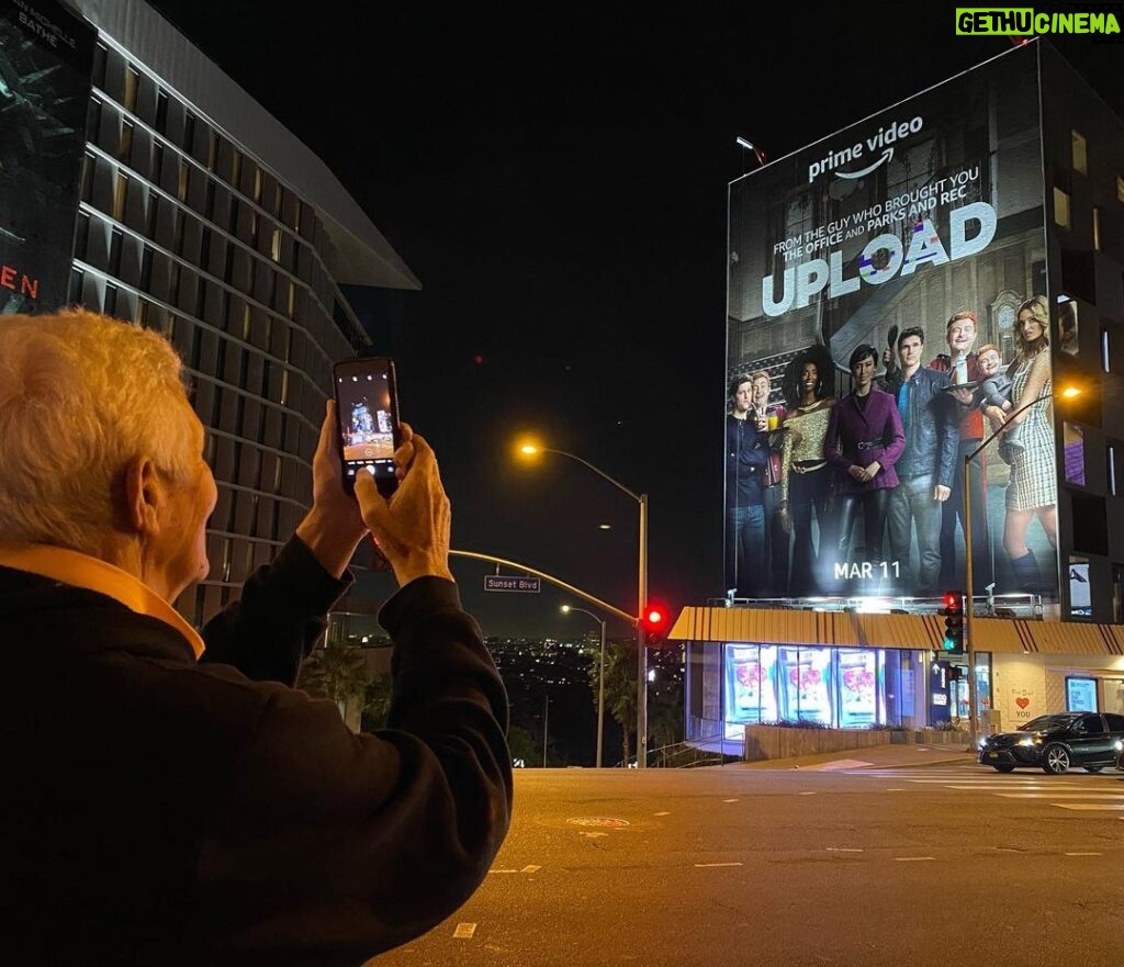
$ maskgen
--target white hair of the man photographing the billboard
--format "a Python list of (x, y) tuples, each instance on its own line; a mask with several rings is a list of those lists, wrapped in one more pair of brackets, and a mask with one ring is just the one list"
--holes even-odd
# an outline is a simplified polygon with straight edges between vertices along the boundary
[(126, 464), (180, 481), (198, 443), (163, 336), (84, 309), (0, 316), (0, 543), (96, 554)]

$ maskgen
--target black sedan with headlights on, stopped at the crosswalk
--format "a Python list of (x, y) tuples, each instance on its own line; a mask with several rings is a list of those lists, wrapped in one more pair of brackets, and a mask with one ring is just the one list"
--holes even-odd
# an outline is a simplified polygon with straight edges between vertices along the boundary
[(1059, 776), (1070, 766), (1099, 772), (1117, 762), (1124, 749), (1124, 715), (1061, 712), (1027, 722), (1018, 732), (1000, 732), (980, 741), (980, 763), (997, 772), (1040, 766)]

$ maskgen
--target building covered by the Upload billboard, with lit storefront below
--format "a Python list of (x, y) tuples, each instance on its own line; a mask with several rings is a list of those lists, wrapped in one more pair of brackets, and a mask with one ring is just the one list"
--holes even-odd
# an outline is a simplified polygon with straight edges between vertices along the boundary
[(689, 736), (1124, 711), (1121, 120), (1013, 49), (733, 182), (728, 255)]

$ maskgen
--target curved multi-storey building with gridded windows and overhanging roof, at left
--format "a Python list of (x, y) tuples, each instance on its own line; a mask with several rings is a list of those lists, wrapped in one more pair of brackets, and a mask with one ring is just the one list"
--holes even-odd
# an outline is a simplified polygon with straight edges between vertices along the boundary
[[(292, 533), (332, 364), (374, 351), (341, 286), (420, 286), (324, 163), (140, 0), (3, 0), (0, 24), (6, 80), (30, 89), (53, 56), (72, 79), (26, 132), (81, 117), (51, 155), (62, 187), (31, 213), (52, 214), (49, 246), (18, 225), (0, 235), (2, 310), (83, 305), (183, 356), (218, 485), (211, 572), (178, 603), (199, 624)], [(0, 192), (15, 213), (20, 186)], [(48, 284), (54, 253), (62, 288)]]

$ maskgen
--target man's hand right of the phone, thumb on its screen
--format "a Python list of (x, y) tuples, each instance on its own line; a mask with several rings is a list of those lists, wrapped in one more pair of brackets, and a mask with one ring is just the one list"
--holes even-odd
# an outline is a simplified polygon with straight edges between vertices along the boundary
[(388, 499), (374, 478), (355, 475), (355, 496), (363, 521), (404, 587), (420, 577), (453, 580), (448, 570), (452, 515), (429, 444), (402, 424), (402, 445), (395, 451), (398, 489)]

